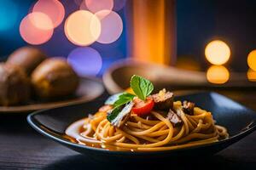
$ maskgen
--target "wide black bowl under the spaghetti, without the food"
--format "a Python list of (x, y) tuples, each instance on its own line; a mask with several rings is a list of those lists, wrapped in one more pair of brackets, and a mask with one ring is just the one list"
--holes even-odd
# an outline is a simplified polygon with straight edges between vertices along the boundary
[(103, 104), (104, 100), (90, 101), (84, 105), (37, 111), (27, 116), (27, 121), (34, 129), (49, 139), (53, 139), (72, 150), (102, 161), (148, 161), (148, 159), (152, 158), (157, 160), (156, 158), (162, 159), (169, 158), (170, 156), (212, 155), (220, 150), (224, 150), (230, 144), (234, 144), (256, 129), (256, 113), (223, 95), (200, 93), (176, 97), (177, 99), (193, 101), (197, 106), (207, 111), (212, 111), (217, 123), (227, 127), (230, 138), (212, 144), (203, 144), (185, 149), (155, 152), (125, 152), (109, 151), (75, 144), (61, 136), (68, 125), (88, 114), (93, 114)]

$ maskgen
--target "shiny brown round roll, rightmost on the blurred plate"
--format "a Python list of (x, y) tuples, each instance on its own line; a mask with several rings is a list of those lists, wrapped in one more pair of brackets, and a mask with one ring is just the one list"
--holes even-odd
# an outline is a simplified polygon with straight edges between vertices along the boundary
[(66, 59), (45, 59), (32, 72), (32, 86), (41, 98), (56, 98), (73, 94), (79, 77)]

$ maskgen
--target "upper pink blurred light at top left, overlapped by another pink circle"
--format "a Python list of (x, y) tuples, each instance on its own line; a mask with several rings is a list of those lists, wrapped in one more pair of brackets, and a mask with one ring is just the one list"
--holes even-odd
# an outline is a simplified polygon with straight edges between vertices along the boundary
[(58, 0), (38, 0), (32, 8), (32, 12), (41, 12), (47, 14), (53, 22), (53, 26), (57, 27), (64, 19), (65, 9)]

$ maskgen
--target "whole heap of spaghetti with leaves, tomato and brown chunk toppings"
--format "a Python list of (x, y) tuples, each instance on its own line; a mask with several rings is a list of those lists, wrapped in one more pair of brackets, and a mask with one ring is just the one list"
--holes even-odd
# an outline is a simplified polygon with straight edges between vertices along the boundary
[[(166, 89), (143, 77), (131, 77), (130, 93), (107, 99), (95, 115), (67, 128), (69, 139), (108, 150), (175, 150), (226, 139), (225, 127), (215, 125), (212, 113), (189, 101), (173, 101)], [(71, 138), (70, 138), (71, 137)]]

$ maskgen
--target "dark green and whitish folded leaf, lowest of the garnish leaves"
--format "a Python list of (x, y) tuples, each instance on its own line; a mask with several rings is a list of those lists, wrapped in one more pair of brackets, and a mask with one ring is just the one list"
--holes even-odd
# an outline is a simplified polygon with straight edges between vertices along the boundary
[(130, 101), (129, 103), (124, 105), (119, 105), (113, 108), (112, 111), (108, 113), (107, 119), (108, 121), (115, 127), (119, 127), (123, 118), (127, 116), (133, 107), (134, 103)]

